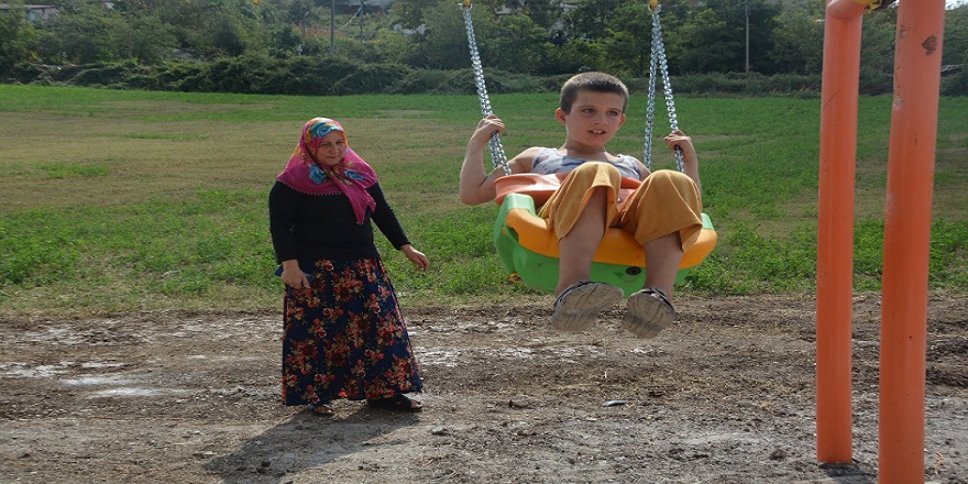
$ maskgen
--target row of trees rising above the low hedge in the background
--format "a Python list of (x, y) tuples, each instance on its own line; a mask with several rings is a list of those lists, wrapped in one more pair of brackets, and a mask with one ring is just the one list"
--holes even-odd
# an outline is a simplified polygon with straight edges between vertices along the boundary
[[(912, 1), (912, 0), (906, 0)], [(334, 14), (330, 0), (56, 0), (59, 13), (26, 21), (23, 0), (0, 14), (0, 76), (31, 65), (178, 58), (337, 57), (413, 69), (466, 68), (457, 0), (396, 0), (387, 12)], [(340, 2), (343, 3), (343, 2)], [(645, 0), (476, 0), (472, 14), (488, 69), (534, 76), (608, 70), (647, 74), (651, 13)], [(824, 0), (661, 1), (673, 75), (818, 75)], [(862, 76), (890, 78), (897, 9), (864, 22)], [(943, 64), (968, 63), (968, 6), (948, 10)], [(36, 70), (33, 67), (33, 70)]]

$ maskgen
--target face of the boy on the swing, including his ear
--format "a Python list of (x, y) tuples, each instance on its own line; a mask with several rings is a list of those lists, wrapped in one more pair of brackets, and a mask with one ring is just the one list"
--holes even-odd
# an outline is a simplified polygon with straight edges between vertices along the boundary
[(604, 145), (625, 123), (625, 98), (614, 92), (581, 91), (571, 112), (560, 108), (558, 122), (568, 131), (569, 140), (586, 145)]

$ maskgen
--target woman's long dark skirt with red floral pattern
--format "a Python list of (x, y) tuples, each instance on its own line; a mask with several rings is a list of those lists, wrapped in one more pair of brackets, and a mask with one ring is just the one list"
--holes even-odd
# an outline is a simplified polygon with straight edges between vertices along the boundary
[(315, 276), (309, 289), (286, 286), (285, 405), (420, 392), (417, 360), (381, 260), (321, 260)]

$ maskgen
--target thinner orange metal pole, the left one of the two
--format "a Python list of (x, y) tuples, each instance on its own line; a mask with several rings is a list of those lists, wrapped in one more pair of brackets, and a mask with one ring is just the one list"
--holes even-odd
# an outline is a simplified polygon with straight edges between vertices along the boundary
[(817, 460), (851, 461), (854, 188), (864, 6), (828, 0), (817, 205)]

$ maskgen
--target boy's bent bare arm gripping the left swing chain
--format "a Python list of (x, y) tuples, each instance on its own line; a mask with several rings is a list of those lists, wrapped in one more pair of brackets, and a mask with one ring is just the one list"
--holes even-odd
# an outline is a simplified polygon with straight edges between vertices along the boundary
[[(460, 199), (466, 205), (480, 205), (494, 200), (497, 190), (494, 180), (504, 176), (502, 168), (496, 168), (490, 174), (484, 170), (484, 148), (491, 140), (492, 133), (504, 131), (504, 123), (495, 116), (490, 116), (477, 123), (477, 129), (468, 142), (468, 151), (464, 153), (464, 163), (461, 166)], [(512, 173), (522, 173), (530, 168), (531, 153), (529, 148), (508, 161)]]

